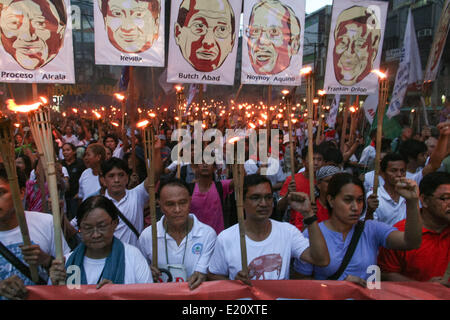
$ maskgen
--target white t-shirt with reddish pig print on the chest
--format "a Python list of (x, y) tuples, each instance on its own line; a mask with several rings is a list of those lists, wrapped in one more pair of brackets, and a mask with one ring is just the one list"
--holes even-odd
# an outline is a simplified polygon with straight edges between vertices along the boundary
[[(272, 230), (263, 241), (245, 236), (250, 280), (287, 280), (292, 257), (299, 258), (309, 240), (295, 226), (270, 219)], [(222, 231), (209, 263), (209, 271), (234, 280), (242, 270), (239, 225)]]

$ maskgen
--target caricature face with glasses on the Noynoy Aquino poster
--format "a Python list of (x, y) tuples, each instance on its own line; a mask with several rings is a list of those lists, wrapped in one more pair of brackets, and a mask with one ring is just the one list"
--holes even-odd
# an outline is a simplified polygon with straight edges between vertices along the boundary
[(247, 48), (257, 74), (277, 74), (289, 67), (300, 48), (300, 20), (278, 0), (262, 0), (253, 8), (246, 30)]

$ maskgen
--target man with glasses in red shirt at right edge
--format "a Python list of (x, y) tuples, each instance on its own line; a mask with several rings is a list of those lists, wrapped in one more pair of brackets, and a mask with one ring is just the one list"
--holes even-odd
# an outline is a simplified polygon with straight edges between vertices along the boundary
[[(387, 281), (431, 281), (450, 287), (444, 273), (450, 262), (450, 174), (433, 172), (420, 182), (422, 244), (403, 251), (381, 248), (378, 265)], [(403, 231), (405, 220), (395, 227)]]

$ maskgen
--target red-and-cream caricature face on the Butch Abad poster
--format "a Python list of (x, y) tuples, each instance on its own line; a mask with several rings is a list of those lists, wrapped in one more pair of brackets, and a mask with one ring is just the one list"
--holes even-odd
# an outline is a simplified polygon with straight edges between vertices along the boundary
[[(219, 68), (233, 49), (232, 8), (228, 0), (185, 0), (183, 25), (175, 24), (175, 40), (183, 57), (195, 70)], [(179, 19), (180, 20), (180, 19)]]

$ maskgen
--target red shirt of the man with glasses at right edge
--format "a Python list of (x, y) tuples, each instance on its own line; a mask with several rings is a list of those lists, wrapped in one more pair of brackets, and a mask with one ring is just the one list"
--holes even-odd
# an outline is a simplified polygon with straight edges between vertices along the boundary
[[(394, 225), (405, 230), (406, 220)], [(416, 281), (442, 277), (450, 261), (450, 226), (441, 233), (422, 228), (422, 244), (415, 250), (380, 248), (378, 265), (383, 272), (400, 273)]]

